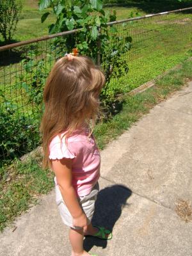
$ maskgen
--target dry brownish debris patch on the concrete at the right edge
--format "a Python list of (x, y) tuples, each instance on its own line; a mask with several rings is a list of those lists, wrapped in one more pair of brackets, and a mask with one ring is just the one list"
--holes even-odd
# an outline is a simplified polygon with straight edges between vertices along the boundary
[(186, 222), (192, 221), (192, 208), (189, 200), (179, 199), (176, 203), (175, 212), (182, 220)]

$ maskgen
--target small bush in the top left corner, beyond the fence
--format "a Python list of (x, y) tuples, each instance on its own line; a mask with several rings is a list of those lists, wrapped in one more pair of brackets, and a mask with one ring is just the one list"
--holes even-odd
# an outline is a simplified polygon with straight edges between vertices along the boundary
[(22, 4), (20, 0), (0, 1), (0, 33), (6, 43), (10, 42), (13, 38), (21, 9)]

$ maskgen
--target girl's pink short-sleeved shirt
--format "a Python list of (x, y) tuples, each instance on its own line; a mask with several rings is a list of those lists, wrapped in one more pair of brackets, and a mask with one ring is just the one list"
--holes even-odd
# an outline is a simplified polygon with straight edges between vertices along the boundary
[[(63, 134), (61, 134), (61, 137)], [(100, 154), (93, 136), (88, 138), (88, 129), (76, 131), (62, 142), (55, 136), (49, 145), (49, 159), (72, 159), (72, 185), (79, 196), (90, 193), (100, 177)], [(56, 177), (54, 180), (57, 184)]]

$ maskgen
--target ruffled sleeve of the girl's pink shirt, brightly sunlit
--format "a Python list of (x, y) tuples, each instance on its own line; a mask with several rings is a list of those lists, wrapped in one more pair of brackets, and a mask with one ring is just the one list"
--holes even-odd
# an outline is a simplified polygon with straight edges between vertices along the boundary
[(52, 141), (49, 147), (49, 159), (75, 158), (76, 155), (68, 150), (65, 143), (62, 141)]

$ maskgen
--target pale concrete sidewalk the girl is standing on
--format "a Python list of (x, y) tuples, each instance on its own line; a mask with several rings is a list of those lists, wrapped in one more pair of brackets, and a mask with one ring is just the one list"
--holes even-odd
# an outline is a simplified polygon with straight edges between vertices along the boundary
[[(175, 202), (192, 200), (192, 83), (175, 93), (101, 152), (100, 193), (93, 223), (113, 239), (86, 238), (99, 256), (191, 256), (192, 221)], [(54, 190), (0, 235), (1, 256), (70, 256), (68, 230)]]

